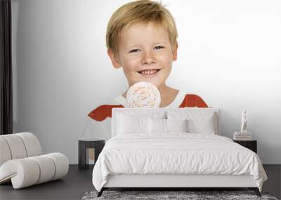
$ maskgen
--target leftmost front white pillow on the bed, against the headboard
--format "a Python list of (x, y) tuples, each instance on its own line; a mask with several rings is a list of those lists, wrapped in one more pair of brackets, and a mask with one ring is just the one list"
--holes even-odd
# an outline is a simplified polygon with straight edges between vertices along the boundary
[(117, 134), (148, 133), (148, 117), (119, 114)]

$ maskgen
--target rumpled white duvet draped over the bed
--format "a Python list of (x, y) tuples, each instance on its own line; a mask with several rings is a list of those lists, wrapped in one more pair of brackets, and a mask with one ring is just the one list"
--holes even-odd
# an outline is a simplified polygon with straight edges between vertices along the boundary
[(106, 142), (93, 168), (100, 189), (115, 174), (253, 175), (261, 191), (267, 175), (259, 156), (219, 135), (126, 134)]

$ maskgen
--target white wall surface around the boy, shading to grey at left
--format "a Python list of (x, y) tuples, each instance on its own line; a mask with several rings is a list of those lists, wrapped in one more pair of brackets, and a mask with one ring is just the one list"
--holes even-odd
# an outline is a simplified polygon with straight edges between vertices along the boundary
[[(105, 48), (107, 21), (125, 2), (12, 0), (14, 131), (71, 164), (87, 114), (127, 87)], [(179, 33), (169, 86), (221, 107), (228, 137), (247, 109), (263, 164), (281, 164), (281, 1), (163, 2)]]

